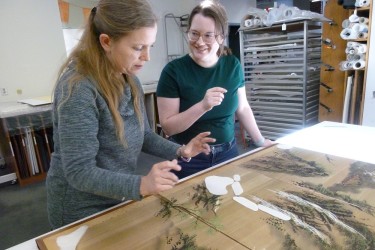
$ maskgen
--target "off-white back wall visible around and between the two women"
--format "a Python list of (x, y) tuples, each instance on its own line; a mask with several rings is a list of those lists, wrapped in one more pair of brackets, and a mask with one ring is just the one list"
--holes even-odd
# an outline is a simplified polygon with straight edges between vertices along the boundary
[[(0, 88), (8, 90), (7, 96), (0, 96), (0, 102), (49, 95), (52, 91), (59, 65), (65, 59), (62, 27), (83, 27), (82, 6), (85, 1), (74, 4), (70, 1), (69, 23), (62, 26), (57, 0), (2, 0), (0, 9)], [(151, 49), (151, 61), (138, 75), (142, 82), (156, 81), (168, 62), (166, 52), (164, 16), (173, 13), (182, 16), (190, 13), (199, 0), (150, 0), (159, 17), (158, 34)], [(222, 0), (228, 12), (229, 23), (239, 23), (249, 7), (255, 7), (256, 0)], [(32, 11), (30, 11), (32, 10)], [(22, 31), (22, 32), (15, 32)], [(169, 34), (181, 36), (177, 31)], [(174, 34), (173, 34), (174, 32)], [(48, 39), (47, 39), (48, 38)], [(179, 45), (180, 46), (180, 45)], [(17, 94), (17, 89), (22, 94)]]

